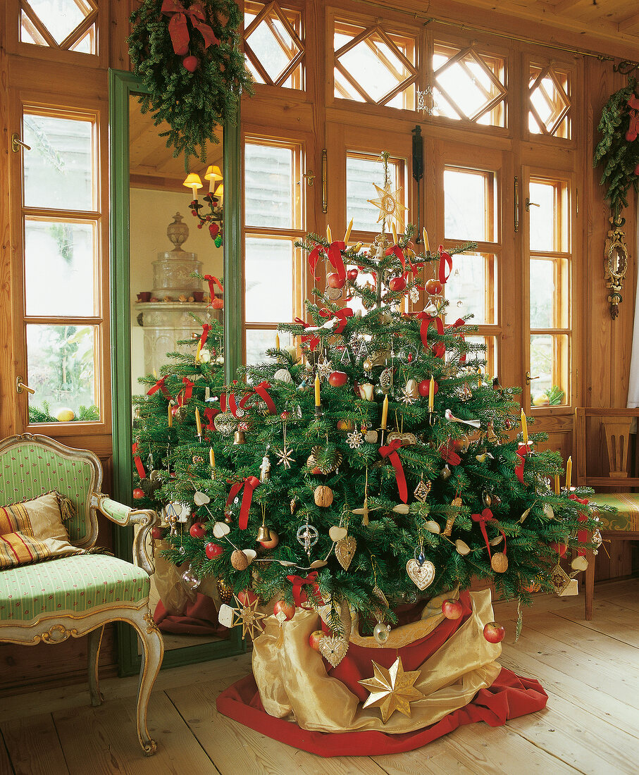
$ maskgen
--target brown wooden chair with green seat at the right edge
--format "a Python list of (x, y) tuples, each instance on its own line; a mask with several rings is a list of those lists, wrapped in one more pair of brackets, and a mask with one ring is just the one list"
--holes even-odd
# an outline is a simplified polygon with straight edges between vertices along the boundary
[[(599, 531), (605, 540), (639, 539), (639, 477), (630, 476), (632, 436), (637, 433), (639, 409), (575, 410), (575, 484), (593, 487), (592, 501), (617, 508), (617, 514), (599, 514)], [(635, 437), (639, 438), (639, 436)], [(636, 446), (639, 453), (639, 445)], [(635, 467), (639, 455), (635, 454)], [(614, 487), (616, 491), (606, 492)], [(604, 491), (602, 491), (604, 490)], [(595, 555), (586, 553), (586, 619), (593, 618)]]

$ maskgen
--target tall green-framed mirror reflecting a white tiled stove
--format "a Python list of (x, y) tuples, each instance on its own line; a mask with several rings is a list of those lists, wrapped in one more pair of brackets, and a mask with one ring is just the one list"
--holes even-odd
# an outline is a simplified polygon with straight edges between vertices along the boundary
[[(229, 374), (237, 360), (239, 333), (223, 309), (223, 277), (237, 281), (231, 250), (233, 225), (239, 222), (237, 127), (218, 127), (207, 147), (207, 162), (191, 160), (204, 188), (184, 186), (184, 160), (174, 158), (153, 117), (140, 110), (143, 89), (130, 73), (111, 74), (112, 162), (112, 320), (114, 395), (114, 486), (119, 499), (132, 501), (132, 396), (147, 386), (139, 377), (161, 374), (171, 363), (168, 353), (190, 350), (185, 340), (199, 337), (202, 323), (218, 321), (225, 332), (219, 353)], [(231, 153), (234, 155), (231, 156)], [(204, 199), (205, 195), (209, 195)], [(197, 197), (201, 216), (191, 200)], [(230, 226), (228, 225), (230, 222)], [(233, 240), (229, 243), (229, 240)], [(194, 277), (215, 277), (215, 281)], [(229, 294), (231, 295), (231, 294)], [(228, 303), (225, 304), (228, 308)], [(230, 335), (227, 336), (227, 332)], [(229, 352), (230, 350), (230, 352)], [(142, 461), (153, 477), (153, 452)], [(169, 529), (167, 515), (161, 514)], [(179, 529), (179, 526), (178, 526)], [(163, 556), (167, 545), (159, 533), (149, 544), (156, 572), (151, 580), (151, 609), (163, 632), (164, 666), (184, 664), (242, 650), (234, 631), (218, 624), (220, 605), (215, 580), (199, 582), (189, 568)], [(122, 541), (121, 556), (130, 546)], [(121, 672), (135, 670), (136, 639), (119, 632)]]

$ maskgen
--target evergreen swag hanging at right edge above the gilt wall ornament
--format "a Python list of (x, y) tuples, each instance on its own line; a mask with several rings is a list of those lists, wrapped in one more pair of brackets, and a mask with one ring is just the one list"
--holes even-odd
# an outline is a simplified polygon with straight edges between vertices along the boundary
[(599, 121), (599, 132), (603, 137), (596, 146), (593, 167), (603, 164), (601, 185), (607, 185), (606, 199), (609, 200), (615, 218), (623, 207), (628, 206), (627, 191), (634, 186), (639, 191), (639, 142), (627, 140), (630, 129), (630, 108), (628, 100), (634, 97), (637, 81), (630, 78), (627, 86), (615, 91), (603, 106)]

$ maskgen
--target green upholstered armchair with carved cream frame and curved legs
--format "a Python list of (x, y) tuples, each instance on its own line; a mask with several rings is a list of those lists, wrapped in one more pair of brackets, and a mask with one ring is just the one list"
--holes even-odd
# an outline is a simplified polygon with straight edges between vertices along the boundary
[[(88, 450), (71, 449), (46, 436), (28, 433), (0, 442), (0, 507), (19, 505), (0, 511), (0, 517), (5, 515), (5, 522), (10, 521), (12, 514), (26, 513), (26, 501), (57, 493), (55, 498), (60, 502), (64, 499), (67, 507), (64, 526), (69, 542), (84, 549), (83, 553), (0, 570), (0, 642), (33, 646), (88, 635), (91, 704), (99, 705), (102, 695), (98, 687), (98, 655), (105, 624), (129, 622), (143, 646), (137, 732), (144, 753), (150, 756), (156, 750), (156, 742), (146, 727), (146, 709), (164, 646), (149, 610), (149, 574), (153, 574), (153, 563), (146, 554), (145, 539), (157, 515), (112, 501), (100, 492), (101, 483), (100, 461)], [(122, 527), (139, 525), (133, 543), (135, 564), (90, 553), (98, 537), (97, 512)], [(2, 532), (5, 539), (29, 536), (29, 529), (9, 533), (5, 528)], [(38, 546), (36, 539), (26, 539), (27, 545), (29, 540)], [(0, 550), (2, 543), (9, 545), (0, 535)], [(68, 551), (74, 552), (73, 547)]]

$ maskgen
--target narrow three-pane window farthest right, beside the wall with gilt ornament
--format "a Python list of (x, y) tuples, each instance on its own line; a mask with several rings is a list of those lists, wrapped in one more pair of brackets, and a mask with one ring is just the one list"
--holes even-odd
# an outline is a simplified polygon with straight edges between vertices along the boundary
[(569, 184), (530, 182), (530, 371), (533, 405), (570, 404)]

